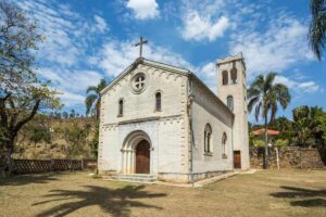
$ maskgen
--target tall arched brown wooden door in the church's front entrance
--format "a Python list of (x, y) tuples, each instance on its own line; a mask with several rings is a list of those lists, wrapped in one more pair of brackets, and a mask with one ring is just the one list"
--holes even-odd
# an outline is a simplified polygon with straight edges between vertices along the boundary
[(136, 148), (136, 174), (150, 173), (150, 145), (148, 141), (142, 140)]

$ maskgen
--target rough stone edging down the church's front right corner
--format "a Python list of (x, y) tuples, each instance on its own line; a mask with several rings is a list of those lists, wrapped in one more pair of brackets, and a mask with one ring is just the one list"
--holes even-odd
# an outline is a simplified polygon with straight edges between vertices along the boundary
[(195, 187), (195, 180), (193, 180), (193, 146), (195, 146), (195, 141), (193, 141), (193, 129), (192, 129), (192, 117), (193, 117), (193, 110), (192, 110), (192, 101), (193, 101), (193, 86), (192, 86), (192, 79), (189, 79), (190, 81), (190, 93), (188, 95), (188, 115), (189, 115), (189, 127), (190, 127), (190, 137), (191, 137), (191, 145), (190, 145), (190, 152), (191, 152), (191, 157), (190, 157), (190, 176), (191, 176), (191, 186)]

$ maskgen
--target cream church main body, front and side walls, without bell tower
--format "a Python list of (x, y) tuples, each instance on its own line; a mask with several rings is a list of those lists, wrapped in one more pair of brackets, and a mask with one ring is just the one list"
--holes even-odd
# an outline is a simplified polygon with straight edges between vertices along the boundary
[[(149, 173), (159, 180), (189, 182), (233, 170), (235, 115), (191, 72), (138, 59), (101, 95), (100, 173), (135, 174), (142, 140), (149, 143)], [(212, 128), (210, 153), (203, 151), (206, 124)]]

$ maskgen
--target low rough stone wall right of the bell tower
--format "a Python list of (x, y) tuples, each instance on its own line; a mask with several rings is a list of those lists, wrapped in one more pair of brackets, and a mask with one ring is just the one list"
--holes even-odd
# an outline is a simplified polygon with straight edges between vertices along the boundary
[[(317, 149), (299, 146), (278, 148), (279, 167), (298, 169), (326, 168)], [(251, 168), (263, 168), (264, 148), (250, 148)], [(269, 150), (269, 168), (277, 168), (276, 152)]]

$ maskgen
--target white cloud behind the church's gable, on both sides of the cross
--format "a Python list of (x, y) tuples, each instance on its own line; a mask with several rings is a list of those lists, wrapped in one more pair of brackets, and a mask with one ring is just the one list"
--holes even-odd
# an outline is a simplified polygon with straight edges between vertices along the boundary
[[(131, 44), (134, 43), (133, 41), (111, 40), (103, 46), (102, 51), (98, 55), (91, 56), (90, 60), (93, 65), (105, 71), (106, 75), (117, 76), (138, 58), (139, 48), (133, 47)], [(181, 55), (152, 43), (143, 47), (143, 55), (145, 58), (150, 56), (149, 59), (153, 61), (193, 72), (213, 92), (216, 92), (216, 65), (214, 62), (196, 66)]]

